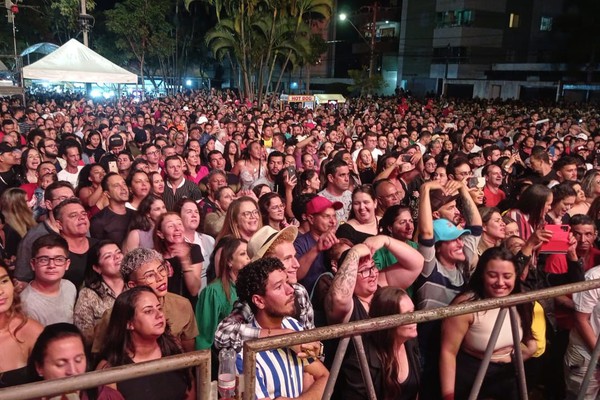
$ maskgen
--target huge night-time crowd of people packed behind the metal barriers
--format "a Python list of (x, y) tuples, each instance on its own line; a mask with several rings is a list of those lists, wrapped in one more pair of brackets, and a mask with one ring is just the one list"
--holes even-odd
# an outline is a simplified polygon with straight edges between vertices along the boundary
[[(213, 89), (4, 99), (0, 120), (0, 387), (196, 349), (216, 378), (218, 351), (241, 368), (245, 340), (600, 276), (591, 105), (399, 91), (309, 109)], [(516, 352), (530, 393), (575, 398), (600, 291), (517, 315), (480, 398), (519, 398)], [(497, 316), (363, 335), (334, 398), (368, 398), (364, 355), (380, 399), (466, 399)], [(320, 399), (336, 346), (260, 352), (256, 397)], [(65, 396), (195, 390), (184, 370)], [(585, 398), (599, 392), (593, 374)]]

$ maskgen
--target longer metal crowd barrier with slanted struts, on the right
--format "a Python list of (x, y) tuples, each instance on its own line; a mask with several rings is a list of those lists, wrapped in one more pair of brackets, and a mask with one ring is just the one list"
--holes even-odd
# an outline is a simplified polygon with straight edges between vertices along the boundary
[[(335, 381), (337, 380), (337, 376), (339, 373), (339, 368), (341, 366), (342, 359), (344, 357), (344, 353), (347, 348), (347, 342), (350, 337), (352, 337), (356, 341), (360, 342), (360, 336), (363, 333), (373, 332), (383, 329), (395, 328), (401, 325), (421, 323), (434, 321), (438, 319), (443, 319), (447, 317), (453, 317), (457, 315), (470, 314), (479, 311), (491, 310), (493, 308), (503, 308), (503, 310), (499, 313), (498, 320), (506, 316), (506, 313), (512, 306), (516, 306), (521, 303), (529, 303), (535, 300), (548, 299), (552, 297), (562, 296), (565, 294), (583, 292), (590, 289), (600, 288), (600, 279), (592, 280), (592, 281), (584, 281), (578, 283), (572, 283), (563, 286), (552, 287), (548, 289), (536, 290), (527, 293), (519, 293), (503, 298), (495, 298), (495, 299), (485, 299), (473, 302), (462, 303), (449, 307), (436, 308), (432, 310), (423, 310), (416, 311), (409, 314), (401, 314), (394, 316), (386, 316), (379, 318), (372, 318), (363, 321), (349, 322), (346, 324), (339, 325), (331, 325), (322, 328), (316, 328), (308, 331), (302, 331), (298, 333), (290, 333), (286, 335), (279, 336), (271, 336), (267, 338), (254, 339), (249, 340), (244, 343), (244, 387), (245, 391), (243, 394), (244, 400), (254, 400), (255, 399), (255, 379), (256, 379), (256, 353), (260, 351), (265, 351), (269, 349), (276, 349), (280, 347), (288, 347), (303, 343), (310, 343), (315, 341), (327, 340), (327, 339), (335, 339), (335, 338), (345, 338), (340, 342), (340, 346), (338, 347), (338, 352), (335, 355), (335, 359), (333, 361), (333, 365), (331, 370), (329, 371), (329, 380), (327, 382), (327, 386), (325, 388), (325, 392), (323, 394), (324, 400), (329, 400), (331, 394), (333, 393), (333, 386), (335, 385)], [(516, 320), (516, 310), (512, 309), (510, 312), (511, 319)], [(502, 321), (496, 322), (497, 327), (494, 327), (494, 330), (498, 330), (502, 326)], [(513, 324), (516, 327), (516, 324)], [(492, 335), (493, 336), (493, 335)], [(497, 338), (497, 335), (496, 335)], [(513, 332), (513, 339), (518, 341), (518, 332)], [(495, 344), (495, 340), (493, 342), (490, 341), (488, 343), (488, 349), (486, 350), (486, 354), (484, 360), (482, 361), (482, 365), (480, 367), (479, 373), (477, 374), (476, 381), (474, 383), (473, 390), (471, 391), (470, 399), (476, 399), (479, 394), (479, 389), (481, 388), (481, 383), (483, 382), (483, 377), (485, 376), (485, 372), (487, 369), (487, 365), (489, 365), (489, 359), (491, 358), (493, 347)], [(360, 344), (359, 344), (360, 346)], [(517, 347), (518, 348), (518, 347)], [(358, 352), (360, 353), (360, 352)], [(488, 354), (489, 353), (489, 354)], [(519, 354), (520, 352), (515, 352), (515, 354)], [(585, 387), (587, 386), (587, 382), (589, 382), (589, 378), (591, 378), (591, 374), (595, 371), (595, 361), (600, 357), (600, 340), (596, 345), (596, 349), (594, 349), (593, 358), (590, 362), (590, 366), (588, 368), (588, 376), (584, 380), (582, 384), (582, 388), (580, 393), (585, 393)], [(487, 359), (487, 361), (486, 361)], [(374, 392), (372, 388), (372, 383), (369, 382), (369, 369), (366, 365), (366, 359), (359, 359), (362, 375), (363, 377), (367, 377), (367, 388), (369, 392), (369, 397), (374, 399)], [(527, 399), (527, 389), (526, 389), (526, 381), (523, 370), (523, 360), (517, 356), (516, 360), (516, 370), (519, 373), (519, 392), (521, 394), (521, 399)], [(581, 394), (580, 394), (580, 398)]]

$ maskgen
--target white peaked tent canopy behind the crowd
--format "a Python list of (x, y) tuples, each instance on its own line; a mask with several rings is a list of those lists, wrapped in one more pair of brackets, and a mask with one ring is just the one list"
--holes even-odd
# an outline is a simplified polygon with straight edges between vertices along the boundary
[(23, 67), (26, 79), (85, 83), (137, 83), (136, 74), (113, 64), (75, 39)]

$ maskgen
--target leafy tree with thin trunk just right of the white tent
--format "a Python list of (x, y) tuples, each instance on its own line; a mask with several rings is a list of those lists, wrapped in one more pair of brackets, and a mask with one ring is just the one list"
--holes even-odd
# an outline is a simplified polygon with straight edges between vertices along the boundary
[(143, 90), (146, 59), (164, 59), (173, 51), (171, 25), (166, 20), (170, 6), (169, 0), (124, 0), (105, 12), (106, 27), (117, 37), (116, 47), (131, 51), (139, 63)]

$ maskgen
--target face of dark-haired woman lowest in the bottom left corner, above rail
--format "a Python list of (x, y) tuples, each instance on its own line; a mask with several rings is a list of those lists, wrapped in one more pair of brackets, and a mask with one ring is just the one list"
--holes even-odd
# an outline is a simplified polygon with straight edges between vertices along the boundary
[(87, 358), (79, 336), (68, 336), (48, 343), (41, 365), (36, 365), (38, 375), (44, 380), (83, 374)]

